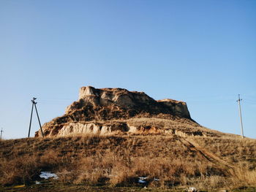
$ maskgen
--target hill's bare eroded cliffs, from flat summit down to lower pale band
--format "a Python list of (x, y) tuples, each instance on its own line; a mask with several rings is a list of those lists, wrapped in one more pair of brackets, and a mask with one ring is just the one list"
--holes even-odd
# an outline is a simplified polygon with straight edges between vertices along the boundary
[[(173, 122), (186, 120), (198, 126), (190, 118), (187, 104), (183, 101), (156, 101), (143, 92), (87, 86), (80, 88), (78, 101), (69, 105), (63, 116), (45, 123), (42, 129), (45, 136), (136, 133), (141, 132), (143, 128), (129, 126), (127, 122), (137, 118), (168, 119), (174, 120)], [(155, 129), (159, 131), (161, 127)], [(39, 134), (37, 131), (36, 137), (39, 137)]]

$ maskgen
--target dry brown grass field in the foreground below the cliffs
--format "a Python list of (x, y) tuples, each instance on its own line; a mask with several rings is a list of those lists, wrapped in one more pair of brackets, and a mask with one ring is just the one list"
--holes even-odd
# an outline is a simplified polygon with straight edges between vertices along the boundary
[[(57, 191), (61, 185), (69, 191), (138, 191), (145, 186), (153, 191), (182, 191), (189, 186), (216, 191), (256, 186), (255, 139), (87, 135), (4, 140), (0, 145), (0, 183), (5, 191), (12, 191), (7, 186), (13, 185), (26, 185), (31, 192), (47, 191), (47, 186)], [(39, 178), (41, 171), (55, 172), (59, 179), (34, 185), (36, 180), (44, 181)], [(138, 183), (139, 177), (145, 177), (145, 183)]]

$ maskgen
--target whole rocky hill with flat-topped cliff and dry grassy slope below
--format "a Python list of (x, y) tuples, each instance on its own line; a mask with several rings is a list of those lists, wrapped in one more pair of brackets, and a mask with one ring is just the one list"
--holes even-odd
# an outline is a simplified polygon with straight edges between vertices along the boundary
[[(58, 191), (63, 184), (74, 192), (99, 191), (89, 186), (255, 191), (255, 139), (200, 126), (182, 101), (84, 87), (78, 101), (42, 129), (46, 137), (37, 132), (36, 138), (0, 141), (0, 191), (20, 184), (31, 192)], [(42, 171), (59, 179), (42, 180)], [(32, 185), (38, 180), (41, 185)]]

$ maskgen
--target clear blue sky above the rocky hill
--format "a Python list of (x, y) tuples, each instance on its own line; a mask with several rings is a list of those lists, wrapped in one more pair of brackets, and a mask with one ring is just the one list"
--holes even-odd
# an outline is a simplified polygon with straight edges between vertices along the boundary
[(240, 93), (244, 134), (256, 138), (255, 10), (255, 0), (0, 0), (4, 138), (27, 136), (33, 96), (45, 123), (86, 85), (186, 101), (197, 123), (233, 134)]

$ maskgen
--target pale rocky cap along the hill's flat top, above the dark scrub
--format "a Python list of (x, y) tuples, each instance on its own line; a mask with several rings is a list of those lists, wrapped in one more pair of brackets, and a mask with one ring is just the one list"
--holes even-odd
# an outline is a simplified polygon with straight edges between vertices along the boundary
[(91, 104), (94, 107), (118, 107), (120, 110), (136, 110), (137, 113), (163, 113), (190, 118), (189, 110), (185, 102), (173, 99), (155, 101), (146, 95), (146, 93), (127, 91), (122, 88), (97, 89), (91, 86), (80, 88), (78, 102), (74, 102), (67, 107), (66, 113), (78, 109), (78, 106), (82, 107), (83, 104)]

